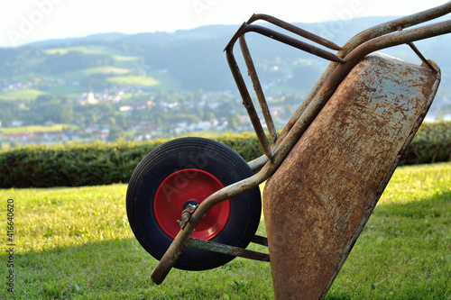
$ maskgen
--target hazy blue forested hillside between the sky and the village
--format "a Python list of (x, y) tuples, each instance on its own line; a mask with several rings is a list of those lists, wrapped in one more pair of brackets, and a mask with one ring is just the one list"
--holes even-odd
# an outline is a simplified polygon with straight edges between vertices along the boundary
[[(297, 25), (343, 44), (355, 33), (389, 19), (368, 17)], [(237, 28), (238, 25), (211, 25), (178, 32), (106, 33), (0, 49), (0, 77), (4, 83), (30, 79), (42, 82), (45, 77), (45, 84), (36, 84), (33, 89), (66, 95), (89, 88), (126, 85), (128, 81), (133, 84), (135, 77), (136, 83), (156, 89), (233, 90), (235, 84), (223, 50)], [(254, 62), (267, 86), (309, 89), (327, 63), (255, 33), (248, 36)], [(451, 70), (450, 41), (451, 36), (447, 35), (418, 42), (425, 56), (436, 60), (445, 71), (445, 78), (449, 76), (447, 70)], [(419, 61), (406, 46), (386, 52)], [(442, 90), (450, 91), (450, 82), (444, 80)]]

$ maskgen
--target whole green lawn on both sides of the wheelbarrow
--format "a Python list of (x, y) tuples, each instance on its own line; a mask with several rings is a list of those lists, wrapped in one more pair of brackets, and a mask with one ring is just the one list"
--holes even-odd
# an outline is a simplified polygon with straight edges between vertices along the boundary
[[(398, 168), (327, 299), (450, 299), (450, 188), (451, 163)], [(6, 200), (14, 198), (16, 298), (273, 297), (270, 265), (246, 259), (202, 272), (173, 269), (153, 285), (157, 262), (133, 238), (125, 192), (126, 185), (0, 190), (4, 231)], [(0, 299), (8, 299), (0, 253)]]

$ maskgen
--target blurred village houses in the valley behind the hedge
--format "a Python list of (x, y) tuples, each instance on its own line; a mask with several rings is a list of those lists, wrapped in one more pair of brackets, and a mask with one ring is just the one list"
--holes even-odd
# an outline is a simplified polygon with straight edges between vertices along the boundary
[[(61, 83), (59, 83), (61, 84)], [(34, 83), (3, 83), (2, 90), (15, 90), (30, 88)], [(77, 85), (74, 82), (73, 85)], [(22, 127), (24, 120), (16, 120), (8, 124), (2, 124), (0, 120), (0, 145), (2, 142), (14, 145), (23, 144), (52, 144), (67, 141), (92, 142), (92, 141), (116, 141), (124, 139), (125, 141), (147, 141), (155, 138), (178, 137), (189, 135), (194, 132), (252, 132), (253, 127), (247, 116), (242, 100), (239, 95), (230, 92), (208, 92), (199, 95), (198, 98), (192, 98), (183, 103), (186, 111), (208, 111), (211, 115), (204, 118), (198, 118), (195, 114), (190, 120), (165, 121), (159, 122), (154, 118), (146, 118), (145, 115), (152, 111), (164, 112), (164, 114), (177, 115), (180, 111), (180, 104), (174, 102), (156, 102), (153, 96), (143, 97), (143, 100), (123, 101), (124, 95), (141, 95), (148, 94), (148, 90), (141, 86), (124, 86), (120, 88), (110, 88), (103, 93), (94, 93), (92, 91), (78, 95), (74, 105), (91, 107), (93, 114), (102, 115), (101, 105), (115, 105), (117, 113), (123, 114), (127, 120), (133, 120), (135, 114), (143, 114), (139, 122), (129, 122), (126, 128), (119, 129), (111, 123), (96, 123), (85, 121), (78, 123), (74, 120), (73, 125), (67, 127), (53, 129), (55, 122), (47, 120), (44, 126), (48, 126), (44, 130), (35, 130), (31, 132), (14, 132), (1, 131), (2, 128)], [(147, 95), (146, 94), (146, 95)], [(268, 105), (272, 113), (272, 118), (277, 129), (283, 128), (284, 124), (290, 119), (299, 105), (301, 95), (290, 95), (290, 99), (285, 99), (286, 95), (267, 96)], [(287, 100), (287, 101), (284, 101)], [(289, 101), (290, 100), (290, 101)], [(224, 104), (228, 104), (224, 106)], [(25, 108), (23, 102), (17, 102), (19, 108)], [(258, 104), (255, 104), (258, 105)], [(105, 106), (104, 106), (105, 107)], [(224, 111), (226, 107), (226, 112)], [(432, 122), (437, 118), (443, 120), (451, 120), (451, 112), (448, 110), (446, 114), (440, 111), (441, 107), (451, 107), (451, 99), (446, 96), (437, 96), (434, 105), (431, 107), (427, 116), (427, 121)], [(256, 107), (260, 112), (260, 108)], [(259, 113), (260, 114), (260, 113)], [(260, 119), (263, 128), (266, 128), (262, 115)], [(42, 128), (42, 127), (41, 127)]]

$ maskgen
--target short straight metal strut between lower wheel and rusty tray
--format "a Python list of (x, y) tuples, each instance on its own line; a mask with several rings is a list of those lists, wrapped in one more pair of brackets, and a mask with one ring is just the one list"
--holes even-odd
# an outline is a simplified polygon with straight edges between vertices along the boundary
[(252, 250), (245, 250), (243, 248), (237, 248), (230, 245), (221, 244), (215, 241), (204, 241), (194, 238), (189, 238), (187, 246), (209, 250), (227, 255), (236, 256), (244, 259), (270, 261), (270, 256), (266, 253), (256, 252)]

